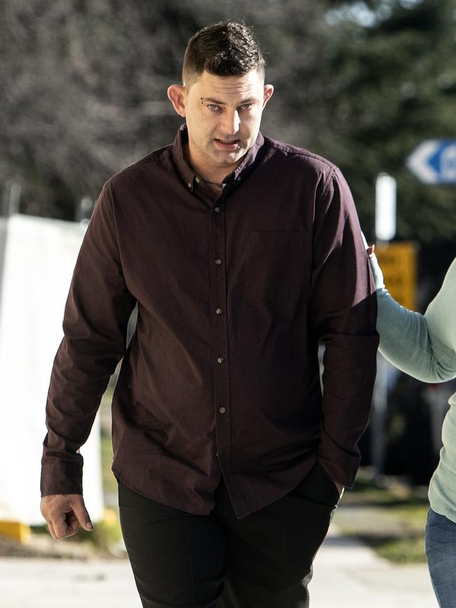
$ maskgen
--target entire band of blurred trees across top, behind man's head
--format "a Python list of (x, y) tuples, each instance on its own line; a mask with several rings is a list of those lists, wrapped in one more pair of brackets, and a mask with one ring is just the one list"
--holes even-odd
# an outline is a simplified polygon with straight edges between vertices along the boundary
[(173, 140), (166, 98), (196, 29), (253, 25), (276, 95), (267, 135), (307, 147), (347, 175), (363, 227), (373, 184), (398, 180), (398, 234), (453, 239), (454, 188), (403, 168), (424, 137), (455, 133), (454, 0), (4, 0), (0, 21), (0, 182), (22, 212), (72, 219), (114, 171)]

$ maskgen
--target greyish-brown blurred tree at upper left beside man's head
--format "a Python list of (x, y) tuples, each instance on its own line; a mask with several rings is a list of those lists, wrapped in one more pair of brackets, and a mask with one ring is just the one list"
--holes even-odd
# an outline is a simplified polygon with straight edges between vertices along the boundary
[[(181, 119), (166, 97), (189, 36), (245, 18), (275, 54), (316, 55), (323, 11), (297, 0), (4, 0), (0, 21), (0, 181), (22, 184), (21, 211), (74, 217), (114, 171), (170, 143)], [(237, 6), (236, 6), (237, 5)], [(293, 28), (290, 36), (283, 36)], [(264, 34), (264, 36), (263, 36)], [(275, 116), (285, 107), (283, 97)], [(274, 123), (274, 121), (272, 121)]]

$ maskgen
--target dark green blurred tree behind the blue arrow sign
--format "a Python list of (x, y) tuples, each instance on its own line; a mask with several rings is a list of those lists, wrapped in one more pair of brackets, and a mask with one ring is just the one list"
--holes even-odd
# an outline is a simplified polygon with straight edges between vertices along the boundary
[(344, 170), (370, 236), (375, 177), (387, 171), (398, 182), (398, 237), (456, 245), (456, 184), (421, 184), (404, 166), (422, 140), (455, 137), (454, 0), (332, 4), (314, 148)]

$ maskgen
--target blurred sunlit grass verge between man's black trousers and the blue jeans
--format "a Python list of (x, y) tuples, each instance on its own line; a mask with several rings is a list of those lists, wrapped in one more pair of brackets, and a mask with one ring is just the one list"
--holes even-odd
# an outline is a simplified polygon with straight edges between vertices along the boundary
[(424, 527), (429, 504), (423, 489), (387, 480), (375, 484), (360, 471), (354, 488), (337, 508), (337, 529), (357, 536), (382, 558), (395, 563), (425, 562)]

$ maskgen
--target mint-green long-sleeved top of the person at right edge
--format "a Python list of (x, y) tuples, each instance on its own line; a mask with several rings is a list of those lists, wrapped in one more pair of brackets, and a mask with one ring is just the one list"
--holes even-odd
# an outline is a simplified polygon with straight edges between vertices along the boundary
[[(370, 262), (377, 287), (380, 352), (398, 369), (426, 382), (456, 377), (456, 258), (424, 315), (400, 306), (383, 285), (377, 259)], [(436, 513), (456, 522), (456, 393), (449, 403), (429, 501)]]

